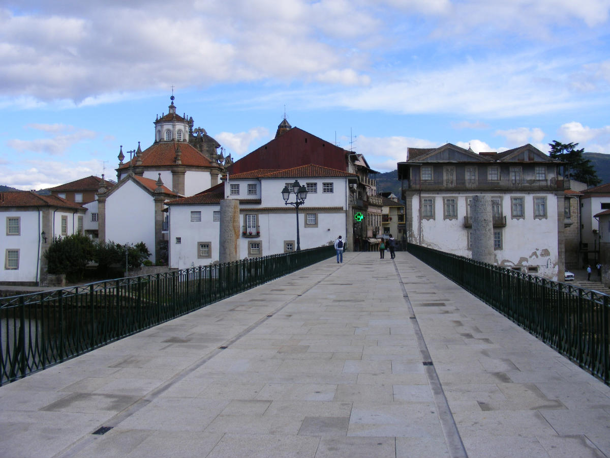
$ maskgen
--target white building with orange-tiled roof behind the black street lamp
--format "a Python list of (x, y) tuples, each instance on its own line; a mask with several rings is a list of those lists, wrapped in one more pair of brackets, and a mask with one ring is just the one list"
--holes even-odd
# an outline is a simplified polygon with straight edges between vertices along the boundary
[(295, 250), (296, 211), (282, 198), (284, 186), (292, 186), (295, 180), (307, 187), (307, 198), (299, 209), (301, 249), (330, 244), (339, 235), (345, 239), (351, 217), (349, 185), (357, 183), (356, 175), (320, 165), (254, 170), (231, 175), (201, 194), (167, 203), (170, 267), (182, 269), (218, 261), (220, 201), (224, 198), (240, 203), (240, 258)]

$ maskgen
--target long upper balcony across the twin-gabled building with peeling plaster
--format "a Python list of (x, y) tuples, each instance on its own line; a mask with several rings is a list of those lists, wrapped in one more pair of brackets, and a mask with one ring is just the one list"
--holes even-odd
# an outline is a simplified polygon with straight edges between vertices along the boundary
[(520, 178), (516, 180), (499, 180), (499, 181), (487, 181), (487, 180), (420, 180), (415, 178), (410, 180), (408, 189), (411, 190), (451, 190), (451, 191), (495, 191), (495, 190), (511, 190), (511, 189), (523, 189), (528, 190), (548, 190), (556, 191), (562, 189), (570, 189), (570, 180), (564, 180), (563, 178), (550, 178), (548, 180), (526, 180)]

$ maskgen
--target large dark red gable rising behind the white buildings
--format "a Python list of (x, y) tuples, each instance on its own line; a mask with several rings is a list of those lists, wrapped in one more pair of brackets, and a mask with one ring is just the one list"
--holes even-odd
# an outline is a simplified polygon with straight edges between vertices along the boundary
[(251, 172), (273, 165), (276, 169), (292, 169), (300, 165), (317, 164), (336, 170), (347, 170), (348, 154), (298, 127), (293, 127), (268, 144), (252, 151), (229, 167), (232, 173)]

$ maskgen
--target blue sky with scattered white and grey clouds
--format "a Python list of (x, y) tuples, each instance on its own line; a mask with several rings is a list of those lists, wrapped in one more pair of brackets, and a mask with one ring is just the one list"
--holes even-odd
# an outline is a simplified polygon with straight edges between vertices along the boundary
[(610, 0), (0, 3), (0, 184), (148, 147), (171, 86), (237, 159), (292, 126), (387, 172), (407, 147), (610, 153)]

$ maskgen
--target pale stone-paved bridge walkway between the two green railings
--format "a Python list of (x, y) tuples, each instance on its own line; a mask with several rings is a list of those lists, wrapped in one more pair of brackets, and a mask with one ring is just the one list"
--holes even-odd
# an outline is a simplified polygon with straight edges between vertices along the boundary
[(609, 387), (403, 252), (346, 252), (0, 403), (0, 456), (610, 456)]

